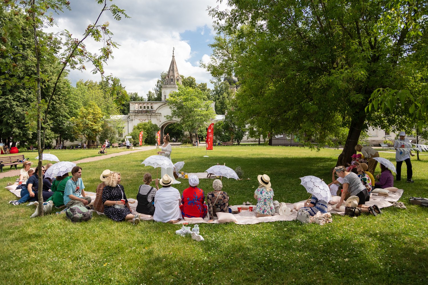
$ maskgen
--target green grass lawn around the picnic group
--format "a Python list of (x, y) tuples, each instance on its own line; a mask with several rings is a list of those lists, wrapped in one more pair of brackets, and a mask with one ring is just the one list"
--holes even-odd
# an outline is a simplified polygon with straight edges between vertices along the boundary
[[(59, 151), (58, 156), (80, 152)], [(155, 153), (81, 164), (85, 190), (95, 191), (101, 171), (109, 168), (122, 173), (127, 197), (135, 198), (143, 174), (156, 176), (157, 170), (140, 165)], [(270, 176), (275, 200), (294, 203), (308, 197), (299, 177), (315, 175), (330, 182), (339, 153), (250, 145), (215, 147), (204, 158), (205, 149), (193, 147), (174, 148), (172, 161), (184, 160), (186, 172), (203, 172), (217, 163), (233, 169), (241, 166), (251, 180), (223, 179), (231, 205), (254, 201), (256, 178), (262, 173)], [(381, 156), (395, 158), (394, 153)], [(389, 207), (377, 217), (334, 214), (333, 223), (324, 226), (297, 221), (200, 224), (205, 241), (199, 243), (190, 236), (175, 235), (180, 225), (152, 221), (132, 226), (97, 214), (75, 224), (65, 215), (30, 219), (34, 207), (9, 206), (15, 197), (4, 189), (0, 194), (0, 283), (426, 284), (428, 209), (407, 203), (411, 196), (428, 197), (428, 156), (421, 159), (412, 161), (415, 183), (395, 183), (404, 188), (401, 201), (407, 210)], [(405, 179), (405, 165), (402, 176)], [(9, 180), (0, 179), (0, 185)], [(188, 187), (186, 180), (181, 181), (176, 187), (180, 192)], [(206, 193), (211, 185), (212, 179), (200, 180)]]

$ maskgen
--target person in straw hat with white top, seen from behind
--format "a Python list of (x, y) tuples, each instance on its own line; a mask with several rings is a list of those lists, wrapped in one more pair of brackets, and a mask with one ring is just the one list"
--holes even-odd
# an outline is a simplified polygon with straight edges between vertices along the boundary
[(180, 192), (171, 187), (172, 179), (168, 174), (163, 175), (159, 183), (163, 187), (155, 194), (153, 220), (163, 223), (177, 223), (181, 219)]

